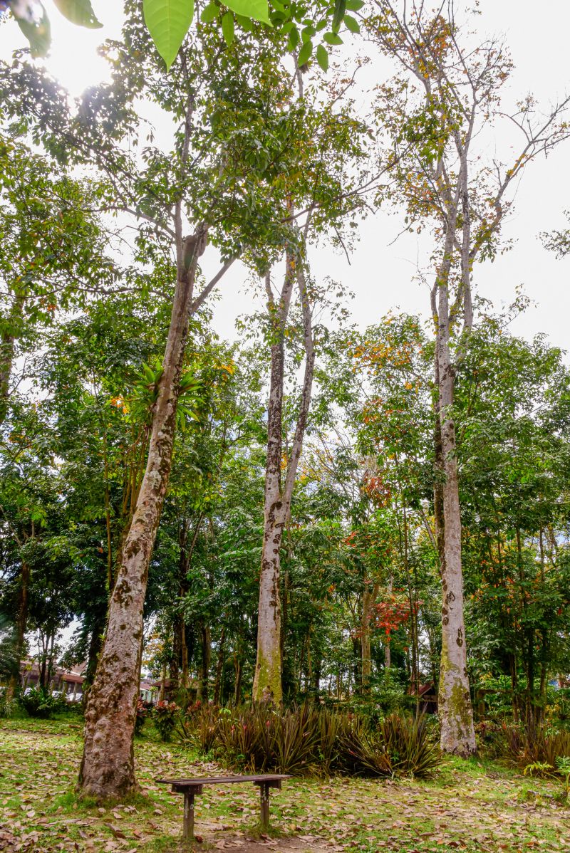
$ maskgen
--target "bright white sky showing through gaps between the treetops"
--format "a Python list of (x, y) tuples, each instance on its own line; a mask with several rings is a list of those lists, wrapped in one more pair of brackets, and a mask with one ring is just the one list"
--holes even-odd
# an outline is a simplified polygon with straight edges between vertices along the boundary
[[(465, 5), (457, 0), (459, 9)], [(51, 55), (46, 61), (50, 73), (73, 95), (108, 78), (107, 65), (96, 54), (96, 46), (104, 38), (119, 38), (122, 3), (93, 0), (96, 15), (104, 24), (102, 30), (96, 31), (68, 24), (51, 0), (46, 0), (46, 6), (53, 31)], [(530, 0), (500, 3), (481, 0), (480, 11), (476, 22), (480, 35), (502, 34), (509, 45), (515, 62), (511, 80), (514, 97), (524, 96), (530, 90), (548, 107), (566, 88), (570, 89), (567, 0), (546, 0), (539, 9)], [(14, 21), (0, 26), (0, 55), (8, 58), (11, 49), (24, 44)], [(384, 63), (373, 60), (365, 82), (370, 85), (381, 80), (385, 67)], [(509, 303), (515, 296), (515, 287), (524, 285), (537, 306), (516, 320), (513, 329), (526, 337), (545, 332), (553, 344), (562, 348), (568, 340), (570, 258), (556, 260), (551, 252), (544, 250), (538, 233), (562, 227), (565, 222), (563, 211), (570, 209), (569, 159), (570, 142), (567, 142), (548, 160), (537, 161), (528, 168), (517, 193), (515, 211), (504, 229), (504, 236), (516, 241), (513, 251), (497, 258), (494, 264), (484, 264), (475, 270), (478, 292), (496, 305)], [(400, 228), (401, 220), (387, 213), (369, 217), (360, 229), (350, 266), (344, 254), (329, 248), (312, 252), (311, 266), (317, 280), (333, 276), (355, 293), (351, 310), (360, 325), (377, 322), (391, 308), (428, 313), (428, 293), (413, 281), (420, 251), (416, 238), (406, 235), (392, 244)], [(205, 262), (206, 276), (216, 270), (215, 258), (210, 253)], [(235, 264), (222, 282), (223, 299), (216, 306), (214, 323), (218, 334), (225, 338), (235, 337), (236, 316), (253, 310), (246, 280), (246, 271)]]

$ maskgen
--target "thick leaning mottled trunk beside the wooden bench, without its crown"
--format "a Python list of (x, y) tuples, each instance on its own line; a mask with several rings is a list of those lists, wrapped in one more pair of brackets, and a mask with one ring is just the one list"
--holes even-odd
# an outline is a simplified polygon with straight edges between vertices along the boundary
[(184, 345), (205, 232), (183, 241), (182, 263), (155, 404), (147, 467), (111, 596), (107, 635), (85, 711), (79, 788), (97, 798), (136, 789), (133, 735), (142, 655), (148, 564), (172, 467), (172, 445)]

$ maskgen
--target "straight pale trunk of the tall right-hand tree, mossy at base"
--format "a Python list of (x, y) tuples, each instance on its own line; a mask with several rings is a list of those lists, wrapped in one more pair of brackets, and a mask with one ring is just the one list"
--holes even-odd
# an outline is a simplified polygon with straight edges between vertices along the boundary
[(472, 755), (476, 749), (469, 693), (467, 647), (463, 620), (461, 512), (457, 475), (457, 443), (453, 421), (455, 371), (449, 347), (450, 319), (446, 278), (439, 280), (436, 358), (439, 380), (439, 424), (443, 459), (443, 551), (441, 566), (442, 620), (439, 672), (441, 749)]

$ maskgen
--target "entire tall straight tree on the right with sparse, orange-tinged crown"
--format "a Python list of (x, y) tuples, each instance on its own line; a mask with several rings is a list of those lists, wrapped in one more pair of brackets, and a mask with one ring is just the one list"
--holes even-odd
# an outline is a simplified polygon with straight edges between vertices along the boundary
[[(398, 154), (394, 200), (406, 206), (406, 228), (431, 225), (435, 334), (434, 506), (442, 583), (439, 678), (441, 746), (475, 750), (463, 618), (462, 525), (457, 471), (454, 394), (457, 363), (473, 325), (472, 272), (476, 260), (497, 252), (515, 178), (538, 154), (567, 138), (568, 100), (540, 115), (529, 96), (510, 114), (500, 94), (511, 62), (503, 44), (468, 46), (452, 3), (435, 14), (422, 3), (375, 0), (369, 36), (402, 68), (380, 87), (378, 116)], [(486, 162), (485, 132), (506, 121), (522, 142), (515, 160)], [(393, 150), (393, 149), (392, 149)]]

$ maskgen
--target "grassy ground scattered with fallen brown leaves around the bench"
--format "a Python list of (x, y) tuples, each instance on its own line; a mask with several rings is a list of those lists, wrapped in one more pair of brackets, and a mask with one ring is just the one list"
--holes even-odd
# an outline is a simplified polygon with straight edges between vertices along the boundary
[[(0, 720), (0, 850), (177, 853), (183, 798), (154, 780), (218, 775), (152, 734), (136, 740), (142, 793), (106, 808), (73, 788), (81, 752), (79, 718)], [(482, 759), (450, 760), (430, 781), (288, 780), (271, 797), (271, 830), (259, 836), (258, 789), (206, 787), (196, 798), (196, 850), (424, 851), (570, 850), (570, 807), (560, 785), (528, 779)]]

